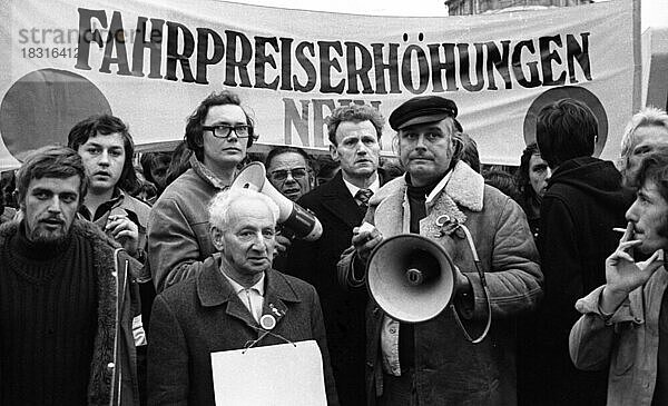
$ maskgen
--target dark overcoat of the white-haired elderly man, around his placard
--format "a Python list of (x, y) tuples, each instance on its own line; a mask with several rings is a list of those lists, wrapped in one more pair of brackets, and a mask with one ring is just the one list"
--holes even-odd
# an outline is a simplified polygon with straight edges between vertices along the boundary
[[(210, 256), (197, 276), (156, 297), (148, 344), (149, 405), (214, 405), (210, 354), (244, 348), (263, 333), (219, 267), (219, 255)], [(281, 316), (272, 334), (256, 345), (314, 339), (323, 355), (328, 404), (338, 405), (313, 286), (268, 269), (263, 306), (267, 314)]]

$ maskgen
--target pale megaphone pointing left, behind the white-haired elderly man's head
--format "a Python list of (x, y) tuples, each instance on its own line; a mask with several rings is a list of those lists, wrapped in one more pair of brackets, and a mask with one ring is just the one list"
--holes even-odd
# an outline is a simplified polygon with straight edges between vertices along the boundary
[(311, 211), (283, 196), (267, 181), (262, 162), (250, 162), (232, 182), (232, 188), (246, 188), (268, 196), (278, 206), (278, 222), (289, 227), (297, 238), (315, 241), (323, 235), (323, 225)]

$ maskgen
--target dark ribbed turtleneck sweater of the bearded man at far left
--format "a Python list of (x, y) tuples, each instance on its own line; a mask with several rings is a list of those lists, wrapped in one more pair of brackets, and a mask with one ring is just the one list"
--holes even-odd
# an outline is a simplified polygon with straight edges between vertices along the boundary
[(0, 405), (86, 405), (97, 328), (92, 244), (0, 247)]

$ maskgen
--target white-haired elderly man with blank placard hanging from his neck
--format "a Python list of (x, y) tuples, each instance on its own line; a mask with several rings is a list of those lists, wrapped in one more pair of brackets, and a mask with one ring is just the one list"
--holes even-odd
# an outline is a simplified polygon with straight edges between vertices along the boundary
[(214, 405), (212, 353), (311, 339), (322, 354), (327, 403), (338, 405), (315, 288), (272, 269), (277, 218), (276, 204), (259, 192), (214, 197), (210, 238), (219, 254), (154, 304), (149, 405)]

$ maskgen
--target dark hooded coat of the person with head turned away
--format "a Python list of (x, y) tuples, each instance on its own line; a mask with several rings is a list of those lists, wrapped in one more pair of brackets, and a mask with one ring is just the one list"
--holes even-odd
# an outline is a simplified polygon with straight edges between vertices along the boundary
[(534, 365), (538, 398), (528, 404), (605, 405), (606, 374), (579, 372), (568, 338), (580, 314), (576, 301), (606, 283), (605, 260), (626, 227), (632, 195), (612, 162), (581, 157), (563, 162), (548, 182), (541, 206), (539, 251), (546, 296), (539, 311)]

